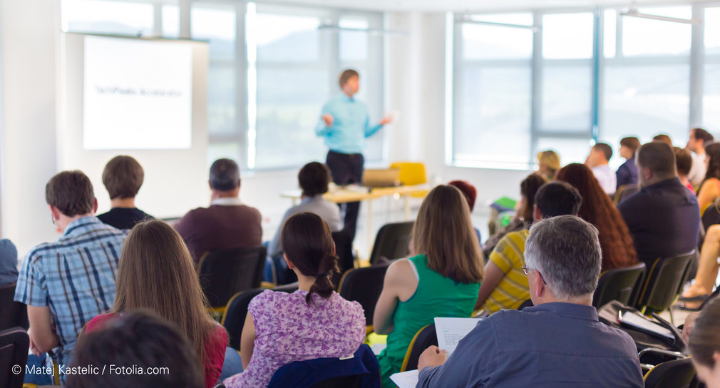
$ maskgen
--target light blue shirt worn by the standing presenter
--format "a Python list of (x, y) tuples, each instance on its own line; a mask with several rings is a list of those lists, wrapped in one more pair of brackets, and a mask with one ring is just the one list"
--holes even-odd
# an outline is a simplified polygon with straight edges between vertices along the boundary
[[(322, 116), (333, 116), (333, 125), (325, 125)], [(325, 145), (338, 153), (362, 153), (365, 137), (372, 136), (382, 125), (370, 125), (367, 107), (361, 101), (340, 94), (323, 106), (320, 122), (315, 127), (318, 136), (325, 137)]]

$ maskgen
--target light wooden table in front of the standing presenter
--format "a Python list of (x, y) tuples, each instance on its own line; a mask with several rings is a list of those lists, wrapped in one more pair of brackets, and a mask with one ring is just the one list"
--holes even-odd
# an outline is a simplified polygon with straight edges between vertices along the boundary
[[(410, 221), (412, 216), (410, 215), (410, 196), (413, 194), (422, 194), (423, 197), (428, 194), (427, 185), (418, 186), (394, 186), (394, 187), (378, 187), (374, 189), (366, 189), (366, 191), (360, 191), (359, 189), (342, 189), (338, 188), (332, 192), (328, 191), (323, 194), (323, 198), (336, 204), (342, 204), (346, 202), (366, 202), (367, 208), (367, 248), (372, 251), (372, 244), (374, 242), (374, 235), (372, 229), (372, 200), (387, 196), (402, 197), (405, 199), (405, 220)], [(367, 191), (369, 190), (369, 191)], [(300, 202), (302, 191), (300, 190), (289, 190), (283, 191), (280, 197), (292, 199), (293, 206)]]

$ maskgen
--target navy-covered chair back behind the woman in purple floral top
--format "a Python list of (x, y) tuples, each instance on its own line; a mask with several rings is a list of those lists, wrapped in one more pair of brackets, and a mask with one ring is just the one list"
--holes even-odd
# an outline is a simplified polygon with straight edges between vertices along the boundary
[(315, 358), (281, 366), (268, 388), (380, 388), (380, 366), (366, 344), (349, 358)]

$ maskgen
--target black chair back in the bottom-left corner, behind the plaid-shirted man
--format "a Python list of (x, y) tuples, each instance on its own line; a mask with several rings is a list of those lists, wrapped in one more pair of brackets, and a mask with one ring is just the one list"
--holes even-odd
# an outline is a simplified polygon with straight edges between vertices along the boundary
[[(0, 331), (0, 387), (22, 387), (29, 348), (30, 337), (23, 328)], [(15, 374), (18, 365), (19, 373)]]

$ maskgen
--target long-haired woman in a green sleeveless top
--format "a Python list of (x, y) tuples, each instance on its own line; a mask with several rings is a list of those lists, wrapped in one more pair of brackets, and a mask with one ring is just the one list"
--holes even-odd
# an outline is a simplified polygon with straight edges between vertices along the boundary
[(482, 280), (482, 253), (463, 194), (440, 185), (420, 205), (413, 228), (418, 256), (387, 268), (373, 316), (374, 330), (387, 334), (378, 357), (383, 387), (400, 371), (410, 340), (435, 317), (469, 317)]

